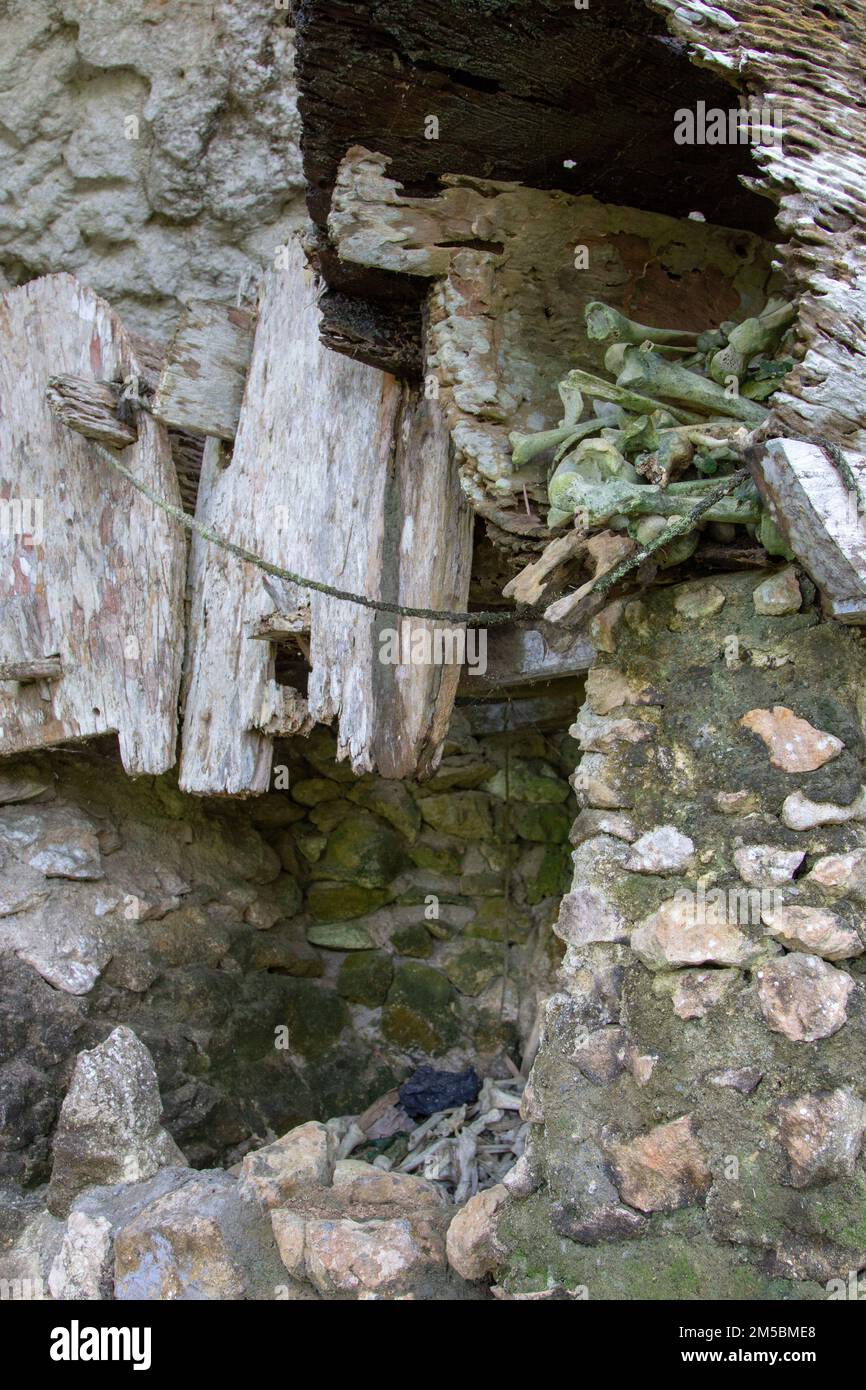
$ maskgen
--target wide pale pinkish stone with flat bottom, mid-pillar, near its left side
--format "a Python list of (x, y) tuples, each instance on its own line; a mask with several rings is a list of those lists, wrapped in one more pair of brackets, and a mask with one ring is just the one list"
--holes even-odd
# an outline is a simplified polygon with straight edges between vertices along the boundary
[(648, 970), (669, 970), (685, 965), (746, 966), (760, 956), (762, 944), (749, 940), (713, 902), (701, 909), (689, 894), (678, 894), (634, 929), (631, 949)]

